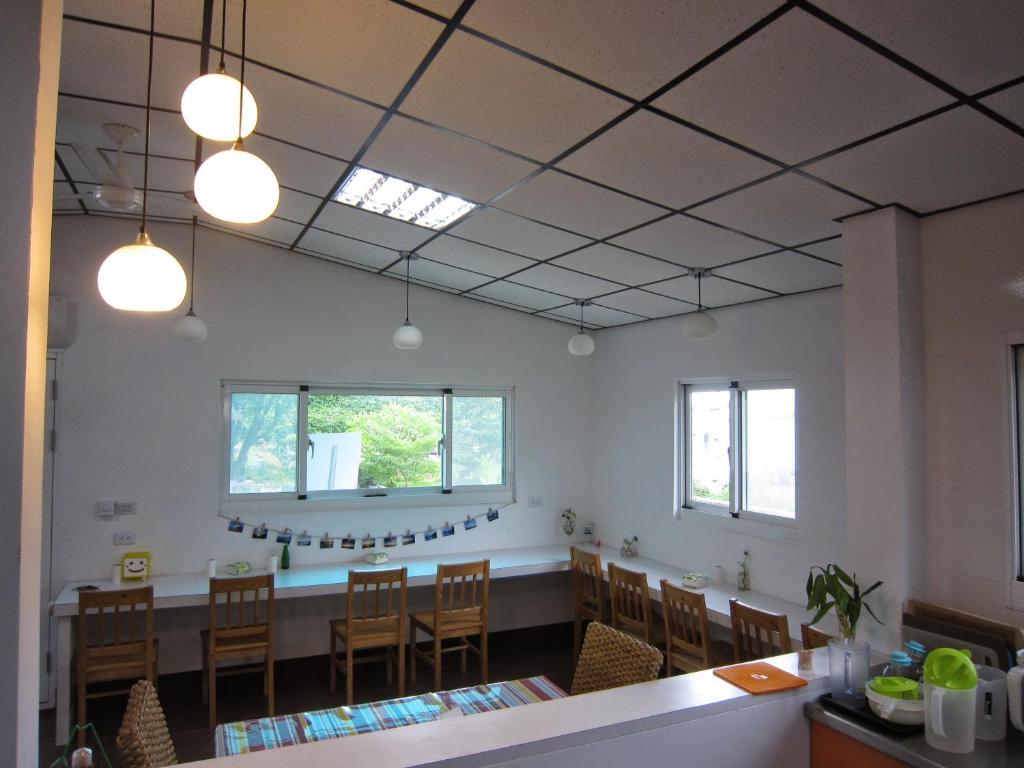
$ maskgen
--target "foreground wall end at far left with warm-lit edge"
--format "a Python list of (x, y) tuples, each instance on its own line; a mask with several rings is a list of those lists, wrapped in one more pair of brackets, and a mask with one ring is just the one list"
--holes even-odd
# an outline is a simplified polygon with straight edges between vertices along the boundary
[(39, 590), (46, 314), (60, 0), (0, 24), (0, 763), (39, 762)]

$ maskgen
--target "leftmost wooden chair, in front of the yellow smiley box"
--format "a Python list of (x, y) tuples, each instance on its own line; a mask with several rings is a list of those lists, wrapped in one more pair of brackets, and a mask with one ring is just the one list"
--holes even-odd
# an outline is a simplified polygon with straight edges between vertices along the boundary
[[(87, 693), (89, 683), (145, 678), (157, 684), (157, 638), (153, 587), (78, 595), (78, 724), (84, 726), (85, 700), (126, 689)], [(79, 745), (85, 732), (79, 731)]]

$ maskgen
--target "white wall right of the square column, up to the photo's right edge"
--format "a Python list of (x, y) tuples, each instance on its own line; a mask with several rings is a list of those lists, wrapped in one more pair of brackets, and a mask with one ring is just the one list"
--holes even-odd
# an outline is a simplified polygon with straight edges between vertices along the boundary
[(1022, 244), (1024, 195), (922, 222), (929, 594), (1017, 626), (1007, 346), (1024, 343)]

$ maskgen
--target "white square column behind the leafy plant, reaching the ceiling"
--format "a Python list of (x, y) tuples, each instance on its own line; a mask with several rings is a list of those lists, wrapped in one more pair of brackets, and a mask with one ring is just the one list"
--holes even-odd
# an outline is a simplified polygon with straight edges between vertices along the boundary
[[(898, 647), (903, 603), (925, 594), (924, 339), (919, 220), (898, 208), (843, 223), (847, 562), (885, 586), (858, 638)], [(877, 596), (876, 596), (877, 595)]]

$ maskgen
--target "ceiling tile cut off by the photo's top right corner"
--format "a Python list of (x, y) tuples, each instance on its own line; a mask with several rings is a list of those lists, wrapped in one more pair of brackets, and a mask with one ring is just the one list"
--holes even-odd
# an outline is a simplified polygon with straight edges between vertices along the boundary
[(858, 32), (969, 93), (1024, 72), (1019, 0), (818, 0)]

